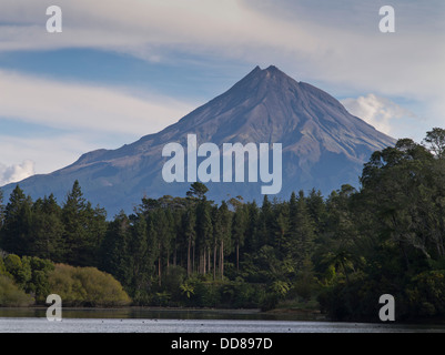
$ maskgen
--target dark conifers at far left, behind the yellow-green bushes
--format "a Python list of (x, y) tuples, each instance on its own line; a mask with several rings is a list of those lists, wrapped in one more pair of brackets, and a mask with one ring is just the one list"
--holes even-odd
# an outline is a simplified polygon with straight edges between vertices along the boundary
[(33, 202), (17, 185), (4, 209), (0, 202), (0, 247), (19, 256), (95, 266), (107, 232), (105, 216), (103, 209), (93, 209), (83, 199), (78, 181), (63, 207), (52, 194)]

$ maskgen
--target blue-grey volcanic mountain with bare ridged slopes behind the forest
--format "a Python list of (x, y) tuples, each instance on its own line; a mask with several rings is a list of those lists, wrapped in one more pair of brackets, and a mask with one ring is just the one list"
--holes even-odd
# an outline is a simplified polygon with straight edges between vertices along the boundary
[[(356, 186), (372, 152), (395, 143), (350, 114), (328, 93), (295, 81), (274, 65), (264, 70), (256, 67), (226, 92), (159, 133), (117, 150), (85, 153), (67, 168), (19, 184), (32, 197), (52, 192), (61, 202), (79, 180), (85, 197), (111, 214), (121, 209), (131, 212), (144, 195), (184, 196), (190, 182), (166, 183), (162, 178), (168, 161), (162, 150), (170, 142), (186, 146), (189, 134), (196, 136), (198, 145), (281, 143), (283, 182), (277, 196), (284, 199), (292, 191), (315, 187), (328, 194), (344, 183)], [(242, 195), (257, 202), (263, 199), (260, 184), (206, 183), (212, 200)], [(3, 187), (6, 197), (14, 186)]]

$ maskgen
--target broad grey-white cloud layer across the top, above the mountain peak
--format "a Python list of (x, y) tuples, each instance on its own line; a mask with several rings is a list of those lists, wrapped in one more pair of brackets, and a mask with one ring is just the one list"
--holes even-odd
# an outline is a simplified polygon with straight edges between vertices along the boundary
[(158, 62), (174, 61), (174, 49), (276, 64), (295, 78), (385, 95), (428, 99), (445, 91), (437, 80), (445, 74), (443, 1), (393, 1), (392, 34), (378, 31), (380, 4), (363, 0), (62, 0), (58, 34), (45, 32), (45, 4), (2, 1), (0, 23), (9, 24), (1, 27), (0, 51), (95, 48)]

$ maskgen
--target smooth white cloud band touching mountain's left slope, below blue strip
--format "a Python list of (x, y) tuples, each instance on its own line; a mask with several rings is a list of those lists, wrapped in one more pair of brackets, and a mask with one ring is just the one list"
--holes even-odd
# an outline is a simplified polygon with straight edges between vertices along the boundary
[(131, 95), (125, 89), (65, 83), (0, 70), (0, 113), (62, 130), (154, 133), (190, 112), (174, 99)]

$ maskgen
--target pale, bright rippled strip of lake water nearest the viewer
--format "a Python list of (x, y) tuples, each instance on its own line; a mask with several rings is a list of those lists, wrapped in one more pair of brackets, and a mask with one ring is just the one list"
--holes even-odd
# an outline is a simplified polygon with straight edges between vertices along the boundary
[(444, 333), (437, 325), (310, 321), (113, 320), (2, 317), (0, 333)]

